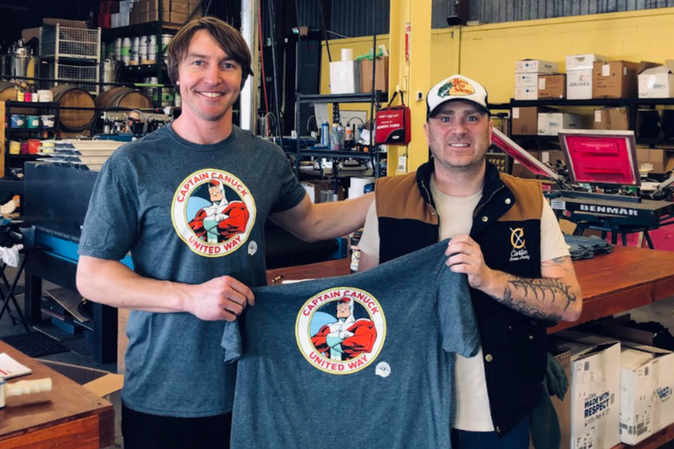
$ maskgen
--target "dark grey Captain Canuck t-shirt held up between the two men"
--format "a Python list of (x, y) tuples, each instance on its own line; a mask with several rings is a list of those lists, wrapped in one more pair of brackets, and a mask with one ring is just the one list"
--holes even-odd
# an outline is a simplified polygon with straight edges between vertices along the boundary
[(450, 448), (453, 353), (474, 356), (479, 336), (446, 248), (255, 289), (222, 339), (240, 357), (232, 449)]

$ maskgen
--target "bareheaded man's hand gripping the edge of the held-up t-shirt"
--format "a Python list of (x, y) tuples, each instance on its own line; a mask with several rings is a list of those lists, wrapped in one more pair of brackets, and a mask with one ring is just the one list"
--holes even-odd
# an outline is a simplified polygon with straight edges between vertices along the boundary
[(204, 321), (234, 321), (246, 305), (255, 305), (250, 288), (230, 276), (191, 286), (186, 311)]

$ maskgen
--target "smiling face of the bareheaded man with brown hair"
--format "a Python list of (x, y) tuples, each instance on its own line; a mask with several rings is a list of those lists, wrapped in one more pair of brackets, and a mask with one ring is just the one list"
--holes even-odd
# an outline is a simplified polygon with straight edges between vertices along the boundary
[(180, 61), (178, 81), (183, 98), (183, 114), (204, 121), (220, 121), (231, 116), (239, 98), (242, 67), (227, 55), (205, 29), (192, 37)]

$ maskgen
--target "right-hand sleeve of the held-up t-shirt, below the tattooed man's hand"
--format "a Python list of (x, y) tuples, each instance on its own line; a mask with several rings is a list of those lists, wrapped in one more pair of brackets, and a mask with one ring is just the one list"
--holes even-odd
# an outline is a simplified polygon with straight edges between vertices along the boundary
[(451, 272), (444, 261), (435, 281), (435, 304), (442, 349), (463, 357), (475, 356), (480, 349), (480, 334), (468, 279), (465, 274)]

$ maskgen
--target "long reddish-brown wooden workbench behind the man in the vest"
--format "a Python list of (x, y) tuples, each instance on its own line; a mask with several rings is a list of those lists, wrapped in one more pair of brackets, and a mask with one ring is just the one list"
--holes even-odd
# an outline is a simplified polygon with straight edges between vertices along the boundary
[[(674, 253), (616, 246), (613, 253), (574, 262), (583, 291), (583, 314), (575, 323), (560, 323), (549, 333), (619, 314), (674, 296)], [(267, 282), (316, 279), (349, 274), (350, 260), (270, 270)], [(278, 279), (282, 276), (282, 279)], [(674, 441), (674, 424), (635, 446), (613, 449), (656, 449)]]

